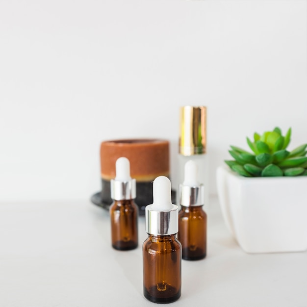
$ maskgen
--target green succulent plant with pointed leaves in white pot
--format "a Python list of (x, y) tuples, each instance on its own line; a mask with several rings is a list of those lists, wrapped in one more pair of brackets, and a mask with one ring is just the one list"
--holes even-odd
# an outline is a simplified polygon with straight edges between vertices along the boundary
[(229, 167), (245, 177), (307, 176), (307, 144), (291, 152), (286, 148), (290, 143), (291, 128), (283, 136), (281, 129), (254, 133), (254, 142), (247, 137), (247, 144), (253, 153), (230, 146), (234, 160), (225, 160)]

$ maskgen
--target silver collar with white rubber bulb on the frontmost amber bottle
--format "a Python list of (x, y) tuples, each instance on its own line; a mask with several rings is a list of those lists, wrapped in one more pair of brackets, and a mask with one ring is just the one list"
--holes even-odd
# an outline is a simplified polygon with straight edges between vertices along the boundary
[(153, 235), (178, 232), (178, 206), (171, 201), (171, 181), (159, 176), (153, 181), (153, 204), (145, 208), (145, 229)]

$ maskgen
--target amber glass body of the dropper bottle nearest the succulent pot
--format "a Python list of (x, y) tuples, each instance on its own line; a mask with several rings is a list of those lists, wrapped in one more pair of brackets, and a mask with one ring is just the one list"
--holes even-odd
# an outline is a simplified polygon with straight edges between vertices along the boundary
[(181, 206), (178, 239), (182, 259), (199, 260), (206, 256), (207, 215), (203, 206)]

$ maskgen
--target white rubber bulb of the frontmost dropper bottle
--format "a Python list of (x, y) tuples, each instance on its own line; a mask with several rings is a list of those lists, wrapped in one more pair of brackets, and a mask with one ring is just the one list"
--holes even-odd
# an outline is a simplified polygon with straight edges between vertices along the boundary
[(171, 196), (171, 181), (165, 176), (153, 180), (153, 205), (152, 210), (164, 211), (173, 208)]

